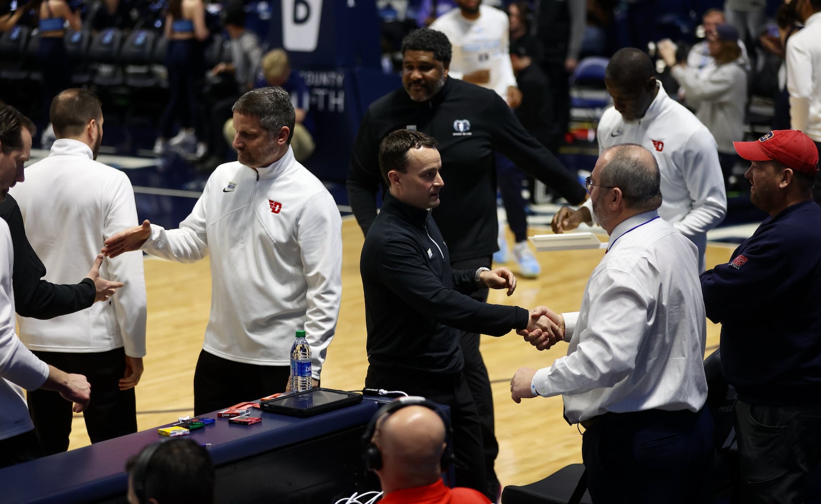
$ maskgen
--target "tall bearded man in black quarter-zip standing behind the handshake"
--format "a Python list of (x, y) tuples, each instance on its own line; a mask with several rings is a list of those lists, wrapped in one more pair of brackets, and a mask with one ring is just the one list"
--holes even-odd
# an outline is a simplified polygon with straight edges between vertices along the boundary
[[(422, 29), (402, 41), (404, 89), (371, 104), (360, 124), (348, 173), (351, 208), (367, 235), (376, 217), (376, 195), (385, 181), (379, 174), (378, 144), (391, 131), (423, 131), (438, 139), (447, 170), (447, 198), (437, 209), (454, 269), (487, 268), (498, 250), (496, 167), (493, 151), (504, 154), (530, 176), (543, 181), (571, 204), (585, 199), (585, 189), (548, 149), (513, 116), (491, 89), (448, 79), (451, 44), (435, 30)], [(487, 300), (487, 289), (476, 291)], [(488, 480), (495, 484), (493, 460), (498, 443), (493, 433), (493, 395), (479, 353), (479, 335), (461, 335), (465, 374), (482, 420)]]

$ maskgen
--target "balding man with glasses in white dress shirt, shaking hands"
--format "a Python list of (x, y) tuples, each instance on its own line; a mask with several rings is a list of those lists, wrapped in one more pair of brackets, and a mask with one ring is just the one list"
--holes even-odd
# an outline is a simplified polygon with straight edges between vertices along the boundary
[(599, 157), (587, 186), (608, 251), (579, 312), (548, 311), (544, 331), (525, 331), (539, 350), (567, 341), (567, 355), (511, 380), (514, 401), (562, 395), (567, 422), (585, 427), (582, 458), (599, 504), (702, 502), (709, 481), (698, 250), (658, 217), (660, 178), (640, 145)]

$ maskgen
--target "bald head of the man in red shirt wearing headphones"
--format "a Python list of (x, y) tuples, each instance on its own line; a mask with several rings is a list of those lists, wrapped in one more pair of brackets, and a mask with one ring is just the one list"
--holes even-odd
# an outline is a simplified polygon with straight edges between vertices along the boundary
[(386, 480), (397, 488), (435, 483), (442, 472), (445, 438), (442, 418), (426, 406), (405, 406), (379, 419), (373, 442), (382, 454), (378, 474), (383, 489)]

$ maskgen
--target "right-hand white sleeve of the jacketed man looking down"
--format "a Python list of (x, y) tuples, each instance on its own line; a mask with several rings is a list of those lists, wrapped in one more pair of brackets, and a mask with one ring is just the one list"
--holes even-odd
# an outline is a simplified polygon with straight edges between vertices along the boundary
[(700, 127), (690, 135), (686, 148), (673, 154), (673, 159), (681, 167), (692, 201), (690, 212), (673, 227), (691, 237), (718, 226), (727, 214), (727, 193), (713, 135)]

